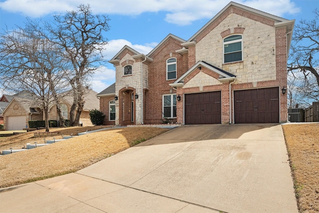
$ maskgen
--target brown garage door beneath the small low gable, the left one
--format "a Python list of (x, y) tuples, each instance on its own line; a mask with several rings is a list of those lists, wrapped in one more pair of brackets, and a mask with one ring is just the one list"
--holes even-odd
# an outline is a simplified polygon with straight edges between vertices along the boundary
[(220, 124), (220, 91), (185, 94), (185, 124)]

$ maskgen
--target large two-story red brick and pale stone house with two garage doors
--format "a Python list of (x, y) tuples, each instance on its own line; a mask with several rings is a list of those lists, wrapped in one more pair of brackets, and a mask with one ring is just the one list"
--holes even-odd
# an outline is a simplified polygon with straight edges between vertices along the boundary
[(124, 46), (116, 83), (99, 93), (105, 124), (287, 122), (287, 56), (295, 20), (235, 2), (188, 40), (149, 54)]

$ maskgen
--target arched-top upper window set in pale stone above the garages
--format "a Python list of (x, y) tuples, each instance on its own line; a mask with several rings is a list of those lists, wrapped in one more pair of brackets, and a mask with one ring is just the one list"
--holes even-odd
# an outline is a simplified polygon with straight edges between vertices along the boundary
[(224, 63), (243, 60), (242, 43), (242, 35), (224, 38)]

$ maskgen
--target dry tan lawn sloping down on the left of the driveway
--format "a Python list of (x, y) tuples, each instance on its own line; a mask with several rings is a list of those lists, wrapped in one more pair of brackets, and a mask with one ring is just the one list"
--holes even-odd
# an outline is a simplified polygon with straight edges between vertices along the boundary
[[(67, 135), (70, 130), (76, 133), (76, 128), (58, 131)], [(116, 128), (1, 156), (0, 188), (78, 171), (166, 131), (168, 129), (153, 127)], [(20, 149), (22, 144), (35, 141), (32, 137), (33, 133), (25, 133), (7, 140), (1, 138), (0, 148), (3, 150), (2, 147), (10, 146)]]

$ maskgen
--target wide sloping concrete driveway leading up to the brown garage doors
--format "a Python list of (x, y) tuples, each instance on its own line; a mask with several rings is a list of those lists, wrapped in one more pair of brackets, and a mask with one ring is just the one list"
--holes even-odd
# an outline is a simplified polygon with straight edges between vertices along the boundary
[(4, 189), (0, 209), (298, 213), (278, 124), (181, 126), (76, 173)]

